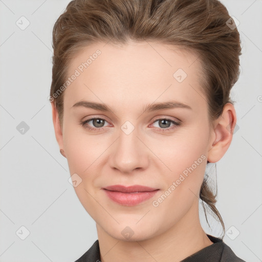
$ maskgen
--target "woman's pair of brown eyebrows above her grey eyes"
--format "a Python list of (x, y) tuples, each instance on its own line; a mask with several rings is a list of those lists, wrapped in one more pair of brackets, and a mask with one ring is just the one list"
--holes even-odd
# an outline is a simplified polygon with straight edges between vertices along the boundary
[[(92, 108), (94, 110), (104, 111), (104, 112), (109, 112), (109, 111), (112, 112), (110, 107), (107, 106), (106, 104), (85, 101), (85, 100), (75, 103), (72, 107), (81, 107), (81, 106), (86, 107), (86, 108)], [(143, 110), (144, 110), (144, 113), (149, 113), (153, 111), (173, 109), (173, 108), (187, 108), (187, 109), (192, 110), (192, 108), (189, 105), (178, 102), (178, 101), (173, 101), (173, 100), (166, 101), (166, 102), (146, 104), (143, 107)]]

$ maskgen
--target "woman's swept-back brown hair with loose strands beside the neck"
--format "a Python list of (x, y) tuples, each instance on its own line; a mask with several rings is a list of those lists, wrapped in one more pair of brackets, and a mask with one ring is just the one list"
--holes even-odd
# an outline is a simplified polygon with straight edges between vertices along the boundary
[[(53, 29), (50, 101), (54, 101), (61, 126), (63, 92), (53, 95), (64, 84), (71, 59), (91, 43), (125, 44), (129, 39), (167, 43), (197, 54), (210, 120), (220, 117), (224, 105), (232, 103), (230, 90), (239, 76), (241, 45), (236, 27), (229, 27), (232, 24), (226, 7), (217, 0), (71, 1)], [(220, 220), (225, 234), (215, 197), (204, 179), (200, 199)]]

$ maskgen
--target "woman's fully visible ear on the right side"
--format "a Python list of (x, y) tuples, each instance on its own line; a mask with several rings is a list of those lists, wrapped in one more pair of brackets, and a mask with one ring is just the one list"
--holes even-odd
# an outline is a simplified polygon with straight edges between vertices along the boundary
[(236, 124), (236, 113), (233, 104), (226, 103), (222, 115), (214, 121), (207, 161), (219, 161), (229, 148)]

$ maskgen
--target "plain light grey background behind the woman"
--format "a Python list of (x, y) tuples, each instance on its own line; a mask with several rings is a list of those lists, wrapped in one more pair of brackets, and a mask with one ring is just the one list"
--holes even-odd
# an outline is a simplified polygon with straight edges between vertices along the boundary
[[(69, 2), (0, 0), (1, 262), (75, 261), (97, 239), (95, 222), (68, 182), (68, 164), (59, 153), (48, 101), (52, 29)], [(216, 164), (217, 208), (227, 230), (225, 243), (244, 260), (258, 262), (262, 261), (262, 1), (223, 3), (240, 23), (243, 55), (241, 76), (232, 91), (239, 129)], [(21, 30), (27, 20), (30, 25)], [(17, 130), (22, 121), (29, 126), (24, 135)], [(210, 176), (215, 178), (212, 170)], [(202, 213), (201, 220), (207, 233), (220, 235), (221, 226), (211, 216), (212, 231)], [(30, 232), (25, 240), (20, 239), (26, 236), (21, 226)]]

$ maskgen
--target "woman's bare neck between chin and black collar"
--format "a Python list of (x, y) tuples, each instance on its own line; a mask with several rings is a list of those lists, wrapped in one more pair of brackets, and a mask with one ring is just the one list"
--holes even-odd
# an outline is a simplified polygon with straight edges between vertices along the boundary
[(213, 244), (201, 227), (198, 203), (180, 221), (150, 239), (122, 241), (107, 234), (98, 224), (97, 233), (101, 262), (179, 262)]

